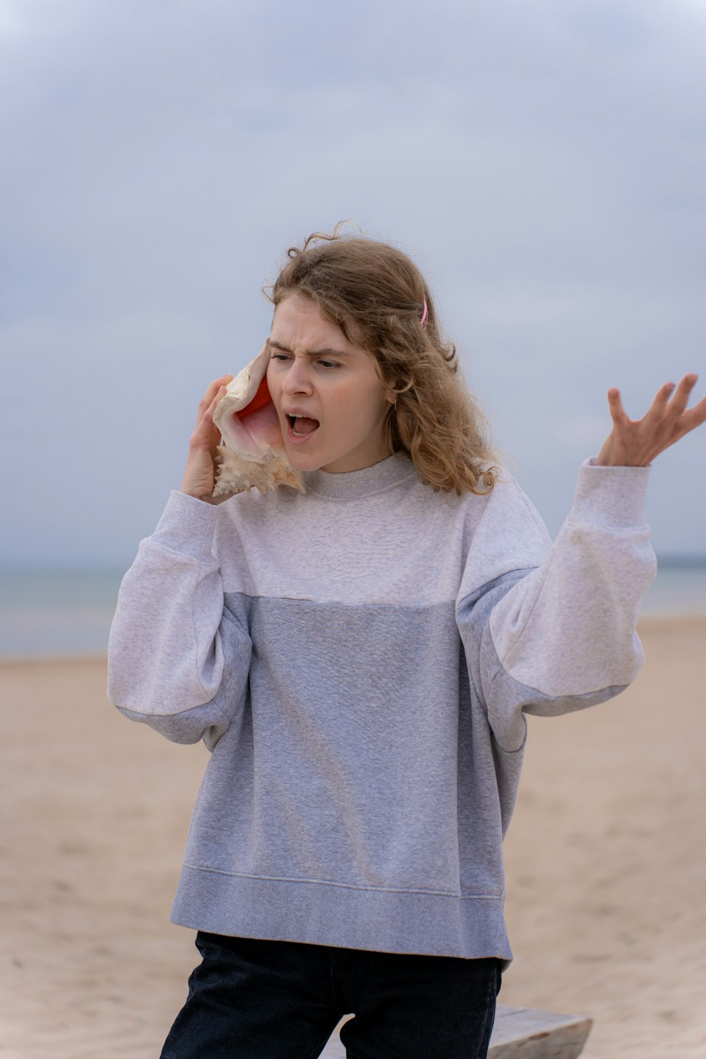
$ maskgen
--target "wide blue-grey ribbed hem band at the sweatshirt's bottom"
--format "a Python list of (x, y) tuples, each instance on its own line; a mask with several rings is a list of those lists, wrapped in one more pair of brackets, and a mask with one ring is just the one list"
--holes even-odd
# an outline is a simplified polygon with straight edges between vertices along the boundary
[(171, 922), (235, 937), (374, 952), (496, 956), (512, 952), (503, 899), (228, 875), (184, 865)]

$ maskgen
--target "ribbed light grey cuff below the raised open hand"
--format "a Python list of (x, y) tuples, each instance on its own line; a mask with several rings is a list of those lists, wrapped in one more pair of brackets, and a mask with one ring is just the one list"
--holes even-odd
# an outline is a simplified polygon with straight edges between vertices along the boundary
[(592, 456), (579, 471), (572, 521), (617, 530), (644, 527), (649, 477), (649, 467), (599, 467)]

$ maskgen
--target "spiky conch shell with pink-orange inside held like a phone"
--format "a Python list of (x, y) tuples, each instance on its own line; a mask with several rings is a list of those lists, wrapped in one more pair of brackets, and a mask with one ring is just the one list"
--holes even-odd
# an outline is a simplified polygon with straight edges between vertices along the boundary
[(258, 489), (269, 492), (291, 485), (305, 492), (304, 474), (287, 460), (279, 418), (267, 385), (269, 341), (225, 388), (214, 412), (214, 426), (223, 445), (218, 447), (214, 497)]

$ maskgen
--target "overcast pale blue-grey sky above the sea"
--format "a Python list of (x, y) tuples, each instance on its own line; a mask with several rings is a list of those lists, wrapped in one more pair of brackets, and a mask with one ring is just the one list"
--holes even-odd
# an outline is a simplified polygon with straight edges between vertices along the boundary
[[(128, 566), (283, 252), (355, 218), (435, 292), (555, 535), (581, 462), (706, 393), (706, 0), (0, 0), (5, 564)], [(706, 426), (658, 553), (706, 552)]]

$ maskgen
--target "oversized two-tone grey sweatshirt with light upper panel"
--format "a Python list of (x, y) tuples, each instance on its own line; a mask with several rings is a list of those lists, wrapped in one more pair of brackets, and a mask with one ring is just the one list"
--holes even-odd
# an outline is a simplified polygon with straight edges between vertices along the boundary
[(524, 715), (642, 664), (647, 478), (587, 461), (554, 544), (509, 474), (457, 497), (399, 455), (306, 495), (171, 492), (121, 587), (108, 697), (212, 751), (173, 921), (507, 964)]

